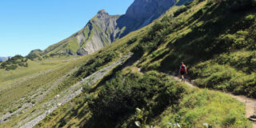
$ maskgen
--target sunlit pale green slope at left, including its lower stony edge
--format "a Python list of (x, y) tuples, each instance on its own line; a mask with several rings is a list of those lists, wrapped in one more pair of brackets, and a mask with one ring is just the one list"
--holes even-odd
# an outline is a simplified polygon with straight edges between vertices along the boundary
[(28, 60), (30, 66), (26, 68), (0, 69), (0, 127), (10, 127), (2, 123), (38, 109), (40, 104), (54, 98), (58, 91), (53, 90), (86, 58), (50, 57), (41, 61)]

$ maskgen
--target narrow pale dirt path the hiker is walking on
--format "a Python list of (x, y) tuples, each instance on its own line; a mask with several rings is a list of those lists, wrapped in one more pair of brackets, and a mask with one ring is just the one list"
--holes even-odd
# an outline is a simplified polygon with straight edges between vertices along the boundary
[[(177, 81), (182, 81), (180, 78), (170, 74), (172, 78), (174, 78)], [(198, 88), (198, 86), (195, 86), (192, 82), (185, 82), (186, 85), (192, 87), (192, 88)], [(225, 94), (228, 94), (230, 97), (237, 99), (239, 102), (243, 102), (246, 105), (246, 118), (248, 118), (250, 121), (253, 122), (253, 128), (256, 128), (256, 118), (250, 118), (253, 115), (256, 115), (256, 99), (254, 98), (247, 98), (244, 95), (234, 95), (226, 92), (222, 92)]]

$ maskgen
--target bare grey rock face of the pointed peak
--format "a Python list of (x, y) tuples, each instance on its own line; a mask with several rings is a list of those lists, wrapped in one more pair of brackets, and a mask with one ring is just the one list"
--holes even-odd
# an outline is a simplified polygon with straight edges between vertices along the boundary
[[(86, 42), (80, 42), (80, 46), (84, 47), (79, 49), (77, 54), (92, 54), (103, 46), (114, 42), (120, 33), (120, 29), (116, 28), (118, 18), (118, 15), (110, 16), (105, 10), (98, 11), (98, 14), (87, 24), (87, 26), (90, 26), (89, 33), (92, 35)], [(85, 36), (79, 34), (78, 37), (84, 39)]]

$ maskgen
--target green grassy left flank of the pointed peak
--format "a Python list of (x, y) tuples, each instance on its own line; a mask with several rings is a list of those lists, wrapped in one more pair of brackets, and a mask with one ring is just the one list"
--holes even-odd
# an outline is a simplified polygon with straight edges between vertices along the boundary
[[(110, 16), (110, 18), (118, 18), (119, 15)], [(107, 46), (110, 44), (110, 30), (102, 30), (102, 28), (98, 25), (98, 17), (90, 19), (90, 21), (86, 24), (82, 30), (79, 30), (77, 33), (73, 34), (69, 38), (62, 40), (52, 46), (49, 46), (46, 50), (42, 52), (42, 54), (56, 54), (56, 53), (67, 53), (67, 54), (78, 54), (78, 50), (82, 50), (86, 43), (89, 42), (95, 34), (98, 38), (101, 39), (103, 46)], [(119, 33), (120, 36), (122, 32)], [(82, 42), (78, 41), (78, 35), (83, 35), (84, 39)], [(118, 38), (118, 37), (116, 37)], [(80, 42), (80, 43), (79, 43)]]

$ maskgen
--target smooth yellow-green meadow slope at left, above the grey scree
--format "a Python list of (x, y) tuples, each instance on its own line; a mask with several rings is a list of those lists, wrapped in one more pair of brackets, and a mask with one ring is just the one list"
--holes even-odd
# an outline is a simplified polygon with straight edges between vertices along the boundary
[[(8, 77), (10, 78), (8, 79), (10, 84), (1, 86), (0, 114), (6, 114), (8, 111), (14, 109), (17, 110), (16, 108), (25, 102), (33, 101), (34, 99), (30, 97), (37, 94), (39, 88), (47, 90), (53, 82), (67, 74), (76, 66), (79, 66), (85, 59), (86, 58), (77, 59), (75, 56), (67, 58), (48, 58), (42, 61), (31, 62), (30, 66), (27, 68), (20, 68), (2, 74), (4, 77), (8, 77), (9, 75), (14, 75), (15, 77)], [(57, 93), (55, 92), (55, 94)], [(22, 98), (25, 98), (25, 100), (20, 100)], [(47, 98), (44, 98), (40, 102), (45, 102), (46, 100)], [(38, 103), (38, 101), (36, 102)], [(36, 108), (36, 106), (34, 106), (34, 108)]]

